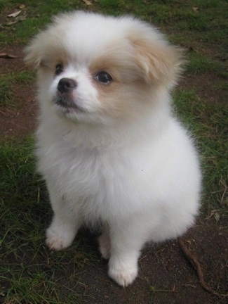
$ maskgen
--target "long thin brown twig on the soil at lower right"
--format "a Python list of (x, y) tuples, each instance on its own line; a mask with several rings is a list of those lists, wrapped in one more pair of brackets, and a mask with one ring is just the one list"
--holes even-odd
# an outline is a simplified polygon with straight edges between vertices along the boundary
[(182, 241), (182, 239), (179, 238), (178, 243), (179, 243), (179, 246), (182, 250), (182, 253), (184, 253), (187, 260), (194, 267), (194, 270), (196, 270), (196, 273), (199, 277), (199, 282), (201, 284), (201, 287), (204, 290), (208, 291), (208, 293), (213, 293), (216, 296), (228, 296), (227, 294), (217, 293), (216, 291), (211, 289), (210, 286), (208, 286), (208, 284), (206, 284), (206, 281), (204, 281), (204, 279), (203, 279), (203, 272), (202, 272), (202, 269), (201, 269), (201, 265), (199, 264), (199, 261), (197, 260), (196, 256), (191, 251), (189, 251), (189, 248), (187, 248), (187, 246), (185, 246), (185, 243)]

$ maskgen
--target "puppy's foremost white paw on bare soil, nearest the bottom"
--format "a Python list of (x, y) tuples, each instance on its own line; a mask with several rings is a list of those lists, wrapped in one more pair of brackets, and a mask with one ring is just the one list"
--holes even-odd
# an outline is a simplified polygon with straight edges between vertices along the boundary
[(137, 262), (123, 263), (119, 260), (109, 260), (109, 277), (114, 279), (120, 286), (126, 287), (133, 283), (134, 279), (138, 275)]

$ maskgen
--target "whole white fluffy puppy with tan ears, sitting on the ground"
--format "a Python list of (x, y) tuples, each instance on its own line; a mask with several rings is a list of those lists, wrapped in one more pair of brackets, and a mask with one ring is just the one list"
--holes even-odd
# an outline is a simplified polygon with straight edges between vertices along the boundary
[(81, 224), (102, 223), (109, 276), (128, 286), (145, 242), (180, 236), (199, 210), (196, 149), (170, 108), (181, 51), (135, 18), (76, 11), (55, 17), (26, 53), (54, 212), (46, 243), (66, 248)]

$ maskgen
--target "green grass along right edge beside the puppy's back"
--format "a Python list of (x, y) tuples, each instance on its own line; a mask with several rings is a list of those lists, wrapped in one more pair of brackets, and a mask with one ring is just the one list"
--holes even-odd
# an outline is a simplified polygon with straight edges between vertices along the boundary
[(189, 126), (199, 147), (203, 168), (202, 212), (208, 215), (211, 210), (219, 209), (225, 213), (228, 108), (206, 103), (191, 89), (177, 90), (174, 97), (175, 112)]

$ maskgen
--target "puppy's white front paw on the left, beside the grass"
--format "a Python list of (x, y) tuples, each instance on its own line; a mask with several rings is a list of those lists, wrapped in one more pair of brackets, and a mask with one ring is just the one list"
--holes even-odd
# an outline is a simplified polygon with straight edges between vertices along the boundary
[(72, 244), (72, 239), (51, 228), (46, 230), (46, 245), (53, 251), (60, 251)]

